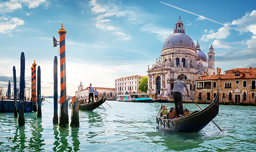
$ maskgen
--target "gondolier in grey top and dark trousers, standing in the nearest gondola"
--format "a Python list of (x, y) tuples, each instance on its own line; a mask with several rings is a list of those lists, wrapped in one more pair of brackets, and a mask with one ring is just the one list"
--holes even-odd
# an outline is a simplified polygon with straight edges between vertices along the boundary
[(185, 87), (187, 96), (189, 97), (189, 92), (187, 89), (187, 85), (183, 82), (183, 76), (179, 76), (179, 80), (174, 82), (173, 87), (173, 100), (175, 104), (176, 116), (179, 117), (180, 115), (184, 116), (183, 106), (182, 106), (182, 89)]

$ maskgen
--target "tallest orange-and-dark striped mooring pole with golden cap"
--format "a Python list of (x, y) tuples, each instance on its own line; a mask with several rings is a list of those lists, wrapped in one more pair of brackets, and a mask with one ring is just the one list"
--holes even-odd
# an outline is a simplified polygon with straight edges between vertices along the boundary
[(69, 123), (68, 101), (66, 92), (66, 48), (65, 48), (65, 35), (67, 31), (61, 28), (59, 34), (59, 54), (60, 54), (60, 118), (59, 125), (66, 126)]

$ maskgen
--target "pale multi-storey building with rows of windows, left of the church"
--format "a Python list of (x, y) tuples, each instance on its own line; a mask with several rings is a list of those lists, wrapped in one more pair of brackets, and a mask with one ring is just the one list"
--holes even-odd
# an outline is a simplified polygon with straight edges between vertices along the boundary
[(142, 93), (141, 90), (138, 90), (138, 87), (143, 77), (144, 76), (133, 75), (114, 80), (115, 96)]

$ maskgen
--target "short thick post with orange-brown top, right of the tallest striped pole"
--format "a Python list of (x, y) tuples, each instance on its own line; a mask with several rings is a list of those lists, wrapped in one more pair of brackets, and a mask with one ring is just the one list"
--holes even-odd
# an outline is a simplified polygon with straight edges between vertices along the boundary
[(72, 97), (72, 116), (70, 126), (79, 126), (79, 107), (78, 107), (78, 98)]

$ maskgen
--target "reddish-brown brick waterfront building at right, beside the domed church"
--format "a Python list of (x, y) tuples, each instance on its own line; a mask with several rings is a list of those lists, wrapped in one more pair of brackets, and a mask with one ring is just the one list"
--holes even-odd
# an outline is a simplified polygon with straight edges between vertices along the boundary
[(256, 96), (256, 68), (229, 69), (220, 74), (210, 75), (197, 82), (197, 101), (212, 101), (219, 89), (220, 102), (246, 103), (255, 102)]

